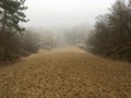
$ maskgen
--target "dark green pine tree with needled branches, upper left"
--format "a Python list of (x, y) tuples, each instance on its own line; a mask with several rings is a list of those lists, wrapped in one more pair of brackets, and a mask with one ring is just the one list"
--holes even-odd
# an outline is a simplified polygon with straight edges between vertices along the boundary
[[(24, 7), (25, 0), (1, 0), (0, 1), (0, 23), (1, 33), (21, 33), (24, 27), (20, 26), (21, 22), (27, 22), (26, 15), (23, 13), (27, 7)], [(10, 32), (9, 32), (10, 30)]]

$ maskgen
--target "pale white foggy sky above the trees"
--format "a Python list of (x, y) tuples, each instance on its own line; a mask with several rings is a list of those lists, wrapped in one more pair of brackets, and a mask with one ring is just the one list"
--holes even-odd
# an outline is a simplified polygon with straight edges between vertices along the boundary
[(94, 24), (95, 17), (107, 12), (115, 0), (26, 0), (26, 26), (71, 27)]

